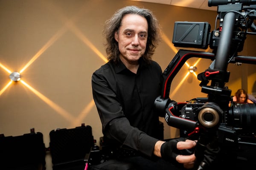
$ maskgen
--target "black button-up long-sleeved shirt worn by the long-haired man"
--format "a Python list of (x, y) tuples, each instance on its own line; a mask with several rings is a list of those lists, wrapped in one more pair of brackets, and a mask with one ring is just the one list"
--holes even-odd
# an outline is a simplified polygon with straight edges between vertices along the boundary
[(137, 74), (122, 62), (108, 62), (93, 73), (93, 99), (102, 132), (113, 145), (125, 145), (152, 156), (159, 135), (154, 101), (160, 95), (161, 77), (157, 62), (146, 64), (143, 60)]

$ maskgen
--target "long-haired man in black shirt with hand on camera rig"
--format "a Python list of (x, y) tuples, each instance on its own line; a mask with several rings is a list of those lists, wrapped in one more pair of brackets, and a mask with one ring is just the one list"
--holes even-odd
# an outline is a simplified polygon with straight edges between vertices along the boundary
[(170, 162), (176, 161), (191, 168), (195, 161), (194, 154), (179, 154), (179, 150), (195, 147), (194, 141), (158, 139), (154, 101), (160, 95), (162, 70), (151, 57), (160, 41), (159, 29), (148, 9), (127, 6), (117, 10), (103, 30), (109, 62), (92, 76), (104, 143), (116, 149), (117, 161), (132, 163), (137, 170), (173, 170), (177, 167)]

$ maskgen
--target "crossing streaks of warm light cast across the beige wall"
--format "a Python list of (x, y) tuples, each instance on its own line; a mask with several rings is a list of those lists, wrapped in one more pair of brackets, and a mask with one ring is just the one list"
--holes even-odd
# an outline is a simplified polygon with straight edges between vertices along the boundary
[[(30, 61), (20, 70), (20, 74), (23, 73), (23, 71), (26, 70), (38, 57), (41, 56), (41, 54), (44, 53), (56, 40), (58, 40), (66, 31), (70, 30), (72, 31), (82, 42), (84, 42), (85, 45), (90, 47), (92, 51), (94, 51), (104, 62), (107, 62), (107, 58), (90, 42), (90, 40), (87, 39), (87, 37), (82, 33), (82, 31), (79, 30), (79, 28), (76, 27), (74, 24), (74, 20), (76, 17), (79, 16), (79, 14), (82, 14), (83, 8), (81, 8), (80, 12), (74, 17), (73, 19), (67, 19), (64, 17), (63, 14), (60, 13), (60, 10), (56, 10), (57, 7), (52, 7), (52, 5), (49, 5), (48, 8), (50, 8), (54, 12), (58, 12), (59, 18), (65, 23), (64, 26), (54, 34), (49, 41), (30, 59)], [(165, 34), (162, 33), (163, 40), (166, 42), (167, 45), (175, 52), (177, 53), (177, 49), (174, 47), (172, 42), (166, 37)], [(197, 60), (197, 62), (193, 65), (197, 65), (200, 59)], [(187, 62), (185, 63), (188, 67), (190, 66)], [(0, 67), (3, 68), (8, 74), (11, 74), (12, 71), (10, 71), (8, 68), (6, 68), (3, 64), (0, 63)], [(177, 92), (178, 88), (183, 84), (185, 81), (186, 77), (188, 77), (190, 72), (183, 77), (183, 79), (180, 81), (180, 84), (175, 88), (174, 91), (172, 91), (172, 94), (170, 96), (174, 96), (174, 94)], [(193, 73), (195, 77), (197, 75), (195, 72)], [(42, 99), (44, 102), (46, 102), (52, 109), (54, 109), (58, 114), (63, 116), (65, 119), (70, 121), (72, 123), (71, 127), (77, 125), (79, 120), (83, 119), (84, 117), (87, 116), (87, 114), (90, 112), (91, 108), (94, 106), (93, 99), (91, 102), (84, 108), (84, 110), (79, 114), (79, 116), (74, 117), (67, 111), (65, 111), (63, 108), (61, 108), (59, 105), (57, 105), (55, 102), (44, 96), (44, 94), (41, 94), (39, 91), (37, 91), (35, 88), (27, 84), (23, 79), (20, 80), (20, 82), (25, 85), (30, 91), (32, 91), (36, 96), (38, 96), (40, 99)], [(0, 95), (6, 91), (6, 89), (12, 84), (12, 80), (8, 82), (1, 90), (0, 90)]]

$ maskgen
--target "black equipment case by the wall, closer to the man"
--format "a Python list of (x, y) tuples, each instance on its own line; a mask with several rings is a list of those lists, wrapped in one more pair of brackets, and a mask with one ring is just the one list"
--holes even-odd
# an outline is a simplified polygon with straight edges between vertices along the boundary
[(51, 130), (49, 136), (52, 170), (84, 170), (85, 156), (94, 145), (91, 126)]

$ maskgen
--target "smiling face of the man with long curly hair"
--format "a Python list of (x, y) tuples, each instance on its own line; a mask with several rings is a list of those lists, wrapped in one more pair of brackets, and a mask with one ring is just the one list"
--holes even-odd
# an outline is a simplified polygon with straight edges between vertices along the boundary
[(115, 33), (120, 59), (137, 62), (145, 53), (148, 37), (148, 22), (137, 14), (126, 14), (119, 30)]

